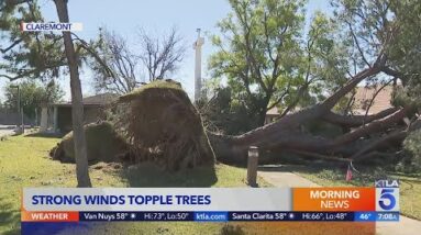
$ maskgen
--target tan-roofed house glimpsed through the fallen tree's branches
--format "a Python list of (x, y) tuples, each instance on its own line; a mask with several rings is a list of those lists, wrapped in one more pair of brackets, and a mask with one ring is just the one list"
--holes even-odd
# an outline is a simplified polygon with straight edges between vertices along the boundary
[[(376, 94), (376, 98), (373, 100), (372, 105), (368, 109), (368, 115), (376, 114), (383, 110), (391, 108), (391, 96), (394, 91), (392, 86), (386, 86), (381, 90), (379, 88), (373, 87), (357, 87), (356, 93), (354, 96), (354, 104), (352, 107), (352, 112), (356, 115), (365, 115), (367, 108), (370, 105), (373, 97)], [(265, 124), (274, 122), (279, 118), (279, 111), (276, 107), (268, 110), (266, 113)]]

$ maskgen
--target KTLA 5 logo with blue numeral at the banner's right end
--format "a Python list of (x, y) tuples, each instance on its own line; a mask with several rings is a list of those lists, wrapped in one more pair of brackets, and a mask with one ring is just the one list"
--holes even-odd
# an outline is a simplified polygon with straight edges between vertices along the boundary
[(376, 181), (376, 211), (399, 211), (399, 181)]

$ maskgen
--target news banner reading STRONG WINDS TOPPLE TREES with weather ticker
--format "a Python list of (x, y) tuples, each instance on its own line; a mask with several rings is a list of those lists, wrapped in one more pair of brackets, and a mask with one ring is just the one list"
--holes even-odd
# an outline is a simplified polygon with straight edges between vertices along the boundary
[(25, 188), (21, 216), (22, 228), (57, 222), (396, 222), (399, 181), (369, 188)]

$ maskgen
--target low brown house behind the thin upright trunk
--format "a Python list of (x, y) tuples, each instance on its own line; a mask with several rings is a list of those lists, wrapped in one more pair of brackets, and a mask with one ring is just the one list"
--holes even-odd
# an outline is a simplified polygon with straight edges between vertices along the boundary
[[(118, 98), (114, 93), (101, 93), (84, 98), (84, 123), (104, 118), (104, 109)], [(71, 131), (71, 102), (53, 103), (42, 108), (41, 132), (68, 133)]]

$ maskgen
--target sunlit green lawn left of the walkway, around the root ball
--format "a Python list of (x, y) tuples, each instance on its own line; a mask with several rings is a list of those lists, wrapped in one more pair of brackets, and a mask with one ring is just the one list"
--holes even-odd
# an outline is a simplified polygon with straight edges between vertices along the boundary
[[(0, 142), (0, 234), (20, 233), (20, 193), (23, 187), (75, 187), (75, 165), (51, 160), (55, 137), (13, 136)], [(99, 163), (90, 167), (95, 187), (246, 187), (246, 171), (219, 164), (215, 172), (195, 169), (166, 174), (152, 165), (124, 167)], [(262, 187), (268, 186), (258, 179)], [(112, 234), (217, 234), (224, 224), (113, 223)]]

